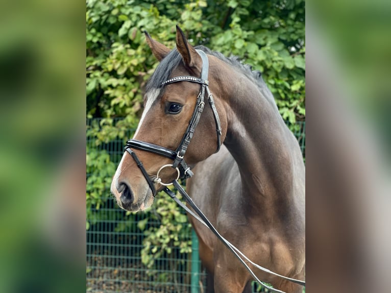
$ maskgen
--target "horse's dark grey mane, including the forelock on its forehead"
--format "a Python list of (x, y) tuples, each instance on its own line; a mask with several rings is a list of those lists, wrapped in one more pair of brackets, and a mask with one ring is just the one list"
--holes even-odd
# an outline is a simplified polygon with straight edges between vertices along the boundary
[[(258, 86), (260, 91), (277, 108), (272, 92), (267, 88), (262, 74), (259, 70), (253, 70), (251, 65), (241, 63), (237, 56), (226, 57), (222, 53), (212, 51), (208, 47), (203, 45), (195, 46), (196, 49), (204, 51), (206, 54), (217, 57), (218, 59), (230, 64), (231, 66), (239, 69), (245, 74), (254, 84)], [(166, 57), (164, 57), (160, 64), (157, 66), (154, 74), (149, 82), (146, 84), (146, 91), (160, 88), (160, 84), (169, 79), (172, 71), (182, 62), (182, 56), (177, 49), (172, 50)]]

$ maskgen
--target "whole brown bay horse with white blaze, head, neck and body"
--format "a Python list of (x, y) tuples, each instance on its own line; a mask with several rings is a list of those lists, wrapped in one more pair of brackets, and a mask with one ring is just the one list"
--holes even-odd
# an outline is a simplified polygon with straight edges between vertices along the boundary
[[(261, 74), (235, 57), (193, 47), (178, 26), (174, 50), (145, 35), (160, 63), (145, 87), (144, 110), (134, 134), (138, 144), (133, 149), (127, 145), (113, 177), (111, 192), (117, 204), (129, 211), (145, 210), (163, 182), (191, 169), (194, 176), (187, 179), (186, 190), (219, 233), (263, 267), (304, 279), (305, 166), (299, 144)], [(201, 82), (190, 81), (202, 76), (202, 55), (208, 62), (208, 81), (203, 81), (208, 92), (200, 92)], [(178, 78), (183, 76), (187, 80)], [(183, 133), (198, 111), (196, 101), (204, 94), (208, 101), (213, 96), (214, 102), (211, 107), (202, 105), (191, 142), (184, 156), (178, 153), (187, 162), (187, 169), (180, 172), (170, 150), (183, 145)], [(217, 132), (215, 112), (221, 128)], [(251, 292), (252, 277), (234, 255), (190, 215), (189, 220), (210, 276), (208, 290)], [(249, 266), (275, 288), (302, 292), (298, 284)]]

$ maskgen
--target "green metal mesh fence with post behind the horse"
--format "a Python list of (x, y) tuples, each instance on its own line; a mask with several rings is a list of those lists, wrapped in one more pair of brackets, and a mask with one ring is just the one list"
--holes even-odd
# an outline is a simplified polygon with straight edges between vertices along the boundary
[[(113, 125), (119, 120), (114, 120)], [(99, 127), (100, 121), (100, 118), (87, 119), (87, 127)], [(305, 122), (295, 125), (294, 134), (305, 158)], [(126, 138), (131, 135), (132, 131), (125, 133)], [(116, 167), (124, 153), (125, 139), (101, 144), (95, 141), (93, 135), (87, 135), (87, 154), (92, 151), (106, 153)], [(89, 176), (87, 173), (87, 180)], [(177, 246), (169, 245), (170, 253), (163, 253), (153, 266), (145, 266), (141, 261), (145, 227), (140, 227), (139, 223), (151, 217), (153, 211), (136, 214), (126, 212), (111, 199), (108, 189), (100, 197), (104, 201), (102, 206), (92, 205), (87, 210), (87, 292), (205, 291), (206, 273), (198, 257), (198, 239), (192, 230), (188, 229), (186, 235), (178, 236), (178, 241), (192, 240), (192, 253), (180, 253)], [(160, 226), (161, 221), (157, 218), (148, 221), (147, 225)], [(262, 291), (256, 283), (253, 288), (254, 292)]]

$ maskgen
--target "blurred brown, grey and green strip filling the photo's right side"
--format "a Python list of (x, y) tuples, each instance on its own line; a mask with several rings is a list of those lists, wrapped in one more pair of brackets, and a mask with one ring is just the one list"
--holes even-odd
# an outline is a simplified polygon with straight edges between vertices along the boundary
[(306, 5), (306, 272), (316, 292), (389, 291), (390, 12), (385, 1)]

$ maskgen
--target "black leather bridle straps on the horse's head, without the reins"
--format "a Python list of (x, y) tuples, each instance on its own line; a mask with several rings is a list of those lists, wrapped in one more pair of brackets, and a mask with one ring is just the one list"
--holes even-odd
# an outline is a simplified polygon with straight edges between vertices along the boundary
[[(173, 164), (171, 166), (174, 169), (177, 169), (177, 172), (178, 172), (180, 178), (186, 179), (186, 178), (193, 176), (193, 173), (191, 172), (190, 167), (186, 164), (183, 157), (185, 156), (187, 147), (191, 141), (191, 138), (193, 137), (195, 128), (197, 127), (197, 125), (200, 121), (201, 114), (204, 110), (205, 91), (206, 91), (207, 99), (208, 99), (210, 108), (212, 109), (214, 121), (216, 124), (216, 133), (217, 133), (217, 150), (216, 150), (216, 152), (218, 152), (218, 150), (220, 149), (220, 146), (221, 146), (222, 130), (221, 130), (221, 125), (220, 125), (220, 119), (218, 117), (217, 110), (214, 105), (212, 93), (209, 90), (209, 81), (208, 81), (209, 61), (208, 61), (208, 57), (201, 50), (197, 50), (197, 53), (201, 56), (201, 59), (202, 59), (202, 70), (201, 70), (201, 77), (200, 78), (196, 78), (196, 77), (192, 77), (192, 76), (179, 76), (179, 77), (175, 77), (175, 78), (166, 80), (165, 82), (162, 82), (160, 84), (161, 87), (168, 85), (168, 84), (181, 82), (181, 81), (188, 81), (188, 82), (194, 82), (194, 83), (201, 84), (201, 91), (197, 97), (197, 103), (195, 104), (193, 115), (191, 116), (191, 119), (189, 121), (189, 125), (188, 125), (188, 127), (185, 131), (185, 134), (183, 135), (183, 138), (181, 140), (181, 143), (179, 144), (176, 151), (166, 149), (166, 148), (161, 147), (160, 145), (157, 145), (157, 144), (153, 144), (153, 143), (149, 143), (149, 142), (145, 142), (145, 141), (140, 141), (140, 140), (136, 140), (136, 139), (130, 139), (126, 143), (125, 151), (127, 151), (133, 157), (133, 159), (136, 161), (137, 166), (140, 168), (142, 174), (144, 175), (146, 181), (148, 182), (154, 197), (156, 196), (156, 189), (154, 186), (154, 182), (162, 184), (161, 179), (158, 176), (159, 174), (157, 174), (156, 178), (152, 182), (152, 180), (151, 180), (150, 176), (148, 175), (148, 173), (146, 172), (143, 164), (138, 159), (136, 154), (132, 151), (132, 149), (150, 152), (153, 154), (157, 154), (157, 155), (172, 159)], [(159, 170), (159, 172), (160, 172), (160, 170)], [(163, 185), (167, 185), (167, 184), (163, 183)]]

